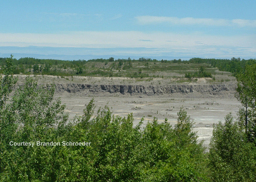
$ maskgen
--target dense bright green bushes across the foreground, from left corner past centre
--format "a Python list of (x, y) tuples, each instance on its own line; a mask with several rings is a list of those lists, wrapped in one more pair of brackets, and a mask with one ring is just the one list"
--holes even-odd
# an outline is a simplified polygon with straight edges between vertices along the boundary
[[(32, 98), (35, 100), (34, 96)], [(45, 106), (47, 107), (47, 104)], [(56, 110), (58, 107), (54, 108), (53, 110)], [(91, 100), (84, 109), (84, 115), (75, 119), (76, 124), (57, 128), (51, 127), (52, 125), (47, 122), (43, 123), (46, 121), (45, 117), (42, 117), (40, 125), (37, 122), (30, 122), (35, 119), (34, 116), (25, 115), (28, 110), (21, 112), (23, 117), (26, 116), (24, 118), (26, 122), (13, 135), (13, 141), (89, 141), (92, 145), (8, 147), (9, 143), (6, 143), (6, 148), (9, 149), (6, 149), (1, 157), (0, 179), (2, 181), (207, 180), (204, 174), (205, 168), (202, 166), (205, 163), (202, 146), (192, 140), (182, 139), (182, 137), (190, 138), (190, 135), (186, 135), (191, 131), (187, 128), (188, 118), (183, 110), (176, 130), (168, 123), (159, 124), (156, 118), (141, 130), (143, 118), (133, 128), (132, 114), (127, 118), (112, 116), (109, 108), (105, 107), (103, 110), (98, 110), (96, 117), (91, 118), (93, 108), (94, 104)], [(40, 115), (36, 114), (39, 112), (37, 109), (32, 112)], [(182, 128), (187, 130), (183, 133)], [(176, 134), (179, 134), (179, 137)]]

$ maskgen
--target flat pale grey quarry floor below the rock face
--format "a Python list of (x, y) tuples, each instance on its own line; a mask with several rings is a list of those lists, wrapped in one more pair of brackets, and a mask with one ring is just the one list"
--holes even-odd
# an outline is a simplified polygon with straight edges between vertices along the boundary
[(172, 95), (122, 95), (121, 93), (100, 93), (82, 95), (79, 93), (64, 92), (56, 94), (60, 97), (62, 104), (66, 104), (66, 112), (70, 119), (75, 115), (82, 115), (85, 105), (94, 98), (96, 106), (94, 115), (99, 107), (108, 106), (114, 115), (127, 117), (133, 113), (134, 126), (138, 124), (142, 117), (145, 127), (148, 121), (154, 117), (159, 122), (164, 122), (165, 118), (172, 126), (177, 123), (177, 113), (183, 107), (188, 116), (194, 120), (193, 130), (197, 132), (198, 141), (204, 140), (204, 146), (208, 147), (212, 136), (213, 124), (225, 122), (225, 116), (231, 113), (237, 117), (240, 103), (234, 98), (233, 93), (225, 95), (202, 95), (200, 93), (172, 94)]

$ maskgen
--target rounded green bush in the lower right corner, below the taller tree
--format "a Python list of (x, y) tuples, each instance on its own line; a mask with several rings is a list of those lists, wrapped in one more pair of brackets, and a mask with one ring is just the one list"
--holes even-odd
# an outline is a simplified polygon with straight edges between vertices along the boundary
[(214, 125), (210, 142), (209, 165), (212, 181), (255, 181), (256, 148), (246, 142), (245, 133), (231, 114), (225, 124)]

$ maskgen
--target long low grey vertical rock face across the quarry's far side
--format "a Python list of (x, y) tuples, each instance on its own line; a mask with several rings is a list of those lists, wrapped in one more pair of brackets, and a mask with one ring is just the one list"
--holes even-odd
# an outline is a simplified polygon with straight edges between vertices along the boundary
[(121, 94), (160, 95), (173, 93), (193, 93), (219, 95), (225, 92), (235, 92), (236, 84), (215, 85), (93, 85), (79, 83), (56, 83), (56, 92), (90, 92), (93, 94), (109, 92)]

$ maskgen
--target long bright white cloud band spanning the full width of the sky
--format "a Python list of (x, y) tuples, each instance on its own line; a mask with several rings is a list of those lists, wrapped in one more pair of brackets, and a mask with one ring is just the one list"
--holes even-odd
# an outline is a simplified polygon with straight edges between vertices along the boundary
[(145, 47), (176, 48), (200, 45), (256, 46), (255, 35), (215, 36), (201, 33), (178, 34), (139, 31), (86, 31), (60, 34), (0, 33), (0, 46), (53, 46), (53, 47)]

